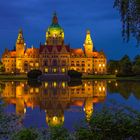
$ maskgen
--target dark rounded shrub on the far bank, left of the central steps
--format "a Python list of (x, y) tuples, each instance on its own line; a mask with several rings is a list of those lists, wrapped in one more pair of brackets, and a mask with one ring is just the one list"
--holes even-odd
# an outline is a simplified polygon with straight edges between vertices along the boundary
[(31, 70), (28, 72), (27, 76), (30, 79), (37, 79), (38, 76), (41, 76), (42, 72), (40, 70)]

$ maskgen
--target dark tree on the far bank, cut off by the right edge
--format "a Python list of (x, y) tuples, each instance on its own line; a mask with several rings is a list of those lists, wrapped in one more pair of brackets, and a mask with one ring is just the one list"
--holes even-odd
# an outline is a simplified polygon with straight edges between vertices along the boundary
[(136, 75), (140, 75), (140, 55), (137, 55), (134, 58), (134, 62), (133, 62), (133, 73)]

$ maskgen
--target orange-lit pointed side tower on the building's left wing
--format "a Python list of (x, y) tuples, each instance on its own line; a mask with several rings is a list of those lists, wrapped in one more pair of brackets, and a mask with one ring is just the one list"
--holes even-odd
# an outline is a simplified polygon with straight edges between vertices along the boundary
[(16, 41), (17, 57), (22, 57), (24, 55), (24, 51), (25, 51), (25, 42), (24, 42), (24, 38), (23, 38), (23, 32), (20, 29), (19, 33), (18, 33), (18, 38), (17, 38), (17, 41)]

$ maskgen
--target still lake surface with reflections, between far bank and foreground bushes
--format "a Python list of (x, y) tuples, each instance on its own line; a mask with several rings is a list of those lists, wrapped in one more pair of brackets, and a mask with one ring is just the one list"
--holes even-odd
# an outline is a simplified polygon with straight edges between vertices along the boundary
[(110, 100), (140, 110), (140, 81), (1, 81), (0, 96), (5, 112), (22, 115), (25, 127), (72, 130)]

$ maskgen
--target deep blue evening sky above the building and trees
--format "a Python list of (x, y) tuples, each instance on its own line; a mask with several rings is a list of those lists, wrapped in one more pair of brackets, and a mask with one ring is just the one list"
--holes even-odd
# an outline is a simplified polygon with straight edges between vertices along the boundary
[(90, 29), (94, 46), (104, 50), (108, 59), (131, 58), (140, 54), (136, 41), (123, 42), (119, 12), (114, 0), (4, 0), (0, 1), (0, 56), (7, 47), (13, 49), (19, 28), (23, 29), (27, 47), (39, 47), (57, 12), (65, 31), (65, 43), (82, 48), (86, 30)]

